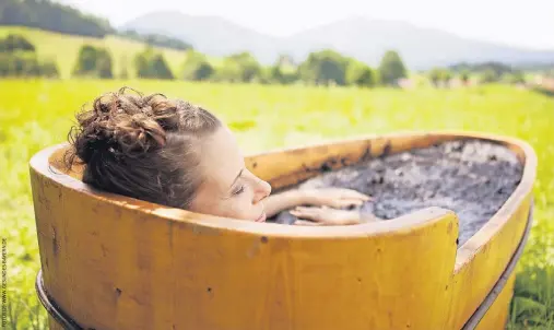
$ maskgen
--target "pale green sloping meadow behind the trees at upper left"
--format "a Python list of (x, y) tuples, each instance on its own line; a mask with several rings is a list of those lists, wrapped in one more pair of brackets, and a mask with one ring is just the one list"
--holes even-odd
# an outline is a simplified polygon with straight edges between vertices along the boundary
[[(113, 57), (114, 73), (116, 76), (119, 75), (123, 63), (126, 63), (130, 78), (135, 76), (132, 63), (134, 56), (146, 47), (144, 43), (121, 38), (115, 35), (108, 35), (101, 39), (46, 32), (30, 27), (0, 26), (0, 38), (5, 37), (10, 33), (22, 35), (31, 40), (31, 43), (35, 45), (36, 51), (40, 58), (55, 60), (60, 70), (61, 78), (63, 79), (70, 78), (79, 49), (83, 44), (106, 47)], [(186, 60), (186, 51), (163, 47), (154, 48), (164, 54), (165, 59), (175, 74), (180, 73), (181, 66)]]

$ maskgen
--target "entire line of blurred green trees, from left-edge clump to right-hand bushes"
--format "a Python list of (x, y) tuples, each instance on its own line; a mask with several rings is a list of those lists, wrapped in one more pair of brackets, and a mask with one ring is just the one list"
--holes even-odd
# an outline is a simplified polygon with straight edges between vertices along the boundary
[[(300, 63), (295, 63), (288, 56), (282, 55), (271, 66), (260, 64), (247, 51), (229, 55), (223, 58), (217, 66), (214, 66), (205, 55), (191, 47), (187, 48), (184, 55), (184, 62), (178, 72), (174, 72), (164, 55), (146, 45), (130, 61), (123, 60), (120, 64), (120, 72), (115, 73), (114, 59), (107, 48), (83, 45), (73, 66), (72, 76), (127, 79), (132, 70), (133, 75), (139, 79), (257, 82), (262, 84), (302, 82), (313, 85), (373, 87), (397, 85), (399, 80), (408, 75), (408, 69), (400, 55), (393, 50), (386, 51), (376, 68), (331, 49), (314, 51)], [(55, 62), (40, 61), (36, 55), (35, 46), (21, 35), (12, 34), (0, 39), (0, 75), (58, 76)], [(463, 83), (468, 83), (470, 76), (475, 75), (479, 75), (481, 83), (503, 81), (515, 84), (524, 82), (521, 72), (497, 62), (461, 63), (449, 68), (434, 68), (426, 74), (437, 87), (447, 85), (455, 76), (458, 76)]]

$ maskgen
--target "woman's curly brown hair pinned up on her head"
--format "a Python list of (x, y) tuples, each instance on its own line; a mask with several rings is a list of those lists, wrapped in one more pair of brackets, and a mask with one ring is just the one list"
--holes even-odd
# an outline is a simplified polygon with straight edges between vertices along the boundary
[(99, 96), (75, 116), (67, 166), (84, 164), (83, 181), (95, 188), (187, 209), (202, 182), (199, 142), (221, 121), (188, 102), (127, 90)]

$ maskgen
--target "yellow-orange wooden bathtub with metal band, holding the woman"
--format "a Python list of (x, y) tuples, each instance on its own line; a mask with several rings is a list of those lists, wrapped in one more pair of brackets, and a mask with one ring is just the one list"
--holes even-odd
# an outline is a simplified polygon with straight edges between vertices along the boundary
[(524, 172), (459, 248), (449, 210), (332, 227), (220, 219), (91, 190), (79, 169), (60, 173), (66, 144), (46, 149), (31, 160), (31, 180), (36, 288), (51, 329), (502, 329), (531, 221), (537, 157), (527, 143), (392, 134), (257, 154), (247, 164), (279, 189), (317, 174), (306, 168), (340, 167), (338, 157), (353, 163), (368, 150), (467, 137), (508, 145)]

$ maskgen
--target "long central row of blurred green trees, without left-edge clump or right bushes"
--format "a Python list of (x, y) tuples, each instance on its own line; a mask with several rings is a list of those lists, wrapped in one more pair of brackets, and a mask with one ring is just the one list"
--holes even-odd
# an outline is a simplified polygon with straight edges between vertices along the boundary
[[(115, 78), (113, 60), (106, 48), (82, 46), (74, 76)], [(223, 58), (220, 66), (213, 66), (205, 55), (193, 49), (186, 51), (179, 72), (173, 72), (162, 52), (152, 47), (137, 54), (131, 61), (135, 76), (143, 79), (214, 81), (214, 82), (257, 82), (262, 84), (292, 84), (305, 82), (317, 85), (357, 85), (372, 87), (377, 84), (394, 84), (406, 76), (400, 56), (396, 51), (385, 54), (378, 68), (353, 58), (344, 57), (333, 50), (311, 52), (302, 63), (295, 66), (287, 56), (281, 56), (272, 66), (262, 66), (249, 52), (238, 52)], [(118, 78), (128, 78), (123, 64)]]

